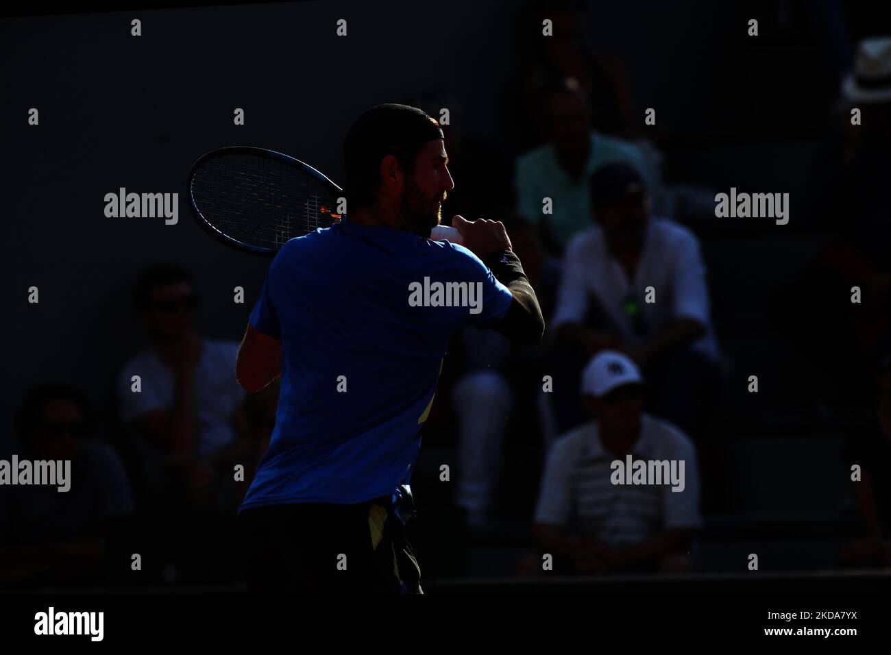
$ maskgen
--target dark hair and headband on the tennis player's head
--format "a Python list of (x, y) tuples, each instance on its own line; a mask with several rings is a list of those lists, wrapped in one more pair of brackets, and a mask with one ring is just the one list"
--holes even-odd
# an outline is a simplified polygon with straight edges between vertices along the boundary
[(416, 107), (382, 104), (359, 116), (343, 147), (347, 214), (374, 203), (380, 188), (380, 160), (391, 154), (399, 168), (412, 175), (418, 153), (437, 138), (442, 138), (437, 121)]

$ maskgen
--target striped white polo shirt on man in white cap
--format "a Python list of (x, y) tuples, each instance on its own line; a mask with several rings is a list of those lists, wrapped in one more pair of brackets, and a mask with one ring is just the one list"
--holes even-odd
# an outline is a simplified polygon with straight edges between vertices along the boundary
[(597, 422), (584, 423), (554, 442), (545, 464), (535, 522), (598, 536), (612, 547), (640, 544), (670, 528), (699, 528), (699, 469), (689, 438), (671, 423), (642, 414), (634, 461), (683, 461), (683, 491), (662, 485), (618, 485)]

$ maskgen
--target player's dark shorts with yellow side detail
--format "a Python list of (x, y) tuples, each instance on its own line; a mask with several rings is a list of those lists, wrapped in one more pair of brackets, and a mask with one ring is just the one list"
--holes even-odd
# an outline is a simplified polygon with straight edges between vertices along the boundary
[(406, 525), (388, 498), (251, 507), (239, 524), (249, 592), (423, 594)]

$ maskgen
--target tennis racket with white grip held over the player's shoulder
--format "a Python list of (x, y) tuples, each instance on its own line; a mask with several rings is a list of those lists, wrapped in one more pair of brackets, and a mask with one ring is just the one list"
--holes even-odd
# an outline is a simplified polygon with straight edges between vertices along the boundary
[[(331, 227), (343, 190), (300, 160), (236, 146), (202, 155), (189, 172), (192, 215), (211, 236), (237, 250), (274, 257), (291, 239)], [(462, 243), (454, 227), (437, 225), (433, 240)]]

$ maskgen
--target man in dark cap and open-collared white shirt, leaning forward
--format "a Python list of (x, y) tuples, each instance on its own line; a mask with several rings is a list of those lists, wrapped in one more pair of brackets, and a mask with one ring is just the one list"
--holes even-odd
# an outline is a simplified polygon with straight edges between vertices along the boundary
[[(723, 374), (699, 242), (682, 225), (650, 216), (630, 166), (603, 166), (590, 190), (597, 224), (568, 247), (550, 329), (580, 349), (582, 361), (603, 348), (625, 351), (651, 382), (648, 410), (696, 439)], [(655, 301), (648, 302), (650, 287)], [(576, 398), (554, 400), (561, 430), (584, 420)]]

